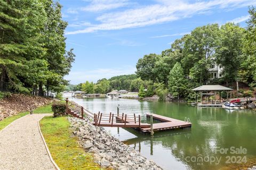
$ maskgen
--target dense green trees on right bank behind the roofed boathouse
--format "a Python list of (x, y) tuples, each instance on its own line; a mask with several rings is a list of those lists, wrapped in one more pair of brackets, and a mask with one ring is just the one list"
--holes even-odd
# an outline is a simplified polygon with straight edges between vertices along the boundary
[[(256, 87), (256, 10), (249, 7), (247, 27), (239, 24), (207, 24), (197, 27), (172, 43), (161, 55), (149, 54), (140, 58), (137, 75), (151, 81), (155, 94), (165, 100), (172, 98), (194, 99), (191, 89), (203, 84), (244, 82)], [(222, 67), (221, 78), (209, 74), (212, 64)], [(143, 87), (141, 88), (142, 97)]]

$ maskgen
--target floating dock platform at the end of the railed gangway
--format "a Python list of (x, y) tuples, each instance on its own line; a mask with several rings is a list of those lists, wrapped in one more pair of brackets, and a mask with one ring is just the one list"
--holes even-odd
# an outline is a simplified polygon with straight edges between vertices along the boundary
[[(147, 117), (150, 117), (151, 114), (147, 114)], [(191, 122), (180, 121), (175, 118), (165, 117), (157, 114), (152, 114), (153, 119), (161, 121), (161, 123), (153, 124), (153, 131), (165, 131), (178, 128), (191, 128)], [(141, 128), (142, 132), (150, 133), (150, 128)]]

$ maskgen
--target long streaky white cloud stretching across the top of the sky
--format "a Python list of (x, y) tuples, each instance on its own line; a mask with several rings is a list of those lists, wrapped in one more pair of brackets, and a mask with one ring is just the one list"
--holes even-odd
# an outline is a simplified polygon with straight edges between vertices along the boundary
[(66, 35), (99, 30), (145, 27), (147, 25), (188, 18), (196, 14), (205, 13), (213, 8), (230, 10), (255, 4), (253, 0), (215, 0), (197, 1), (195, 3), (189, 3), (189, 1), (160, 1), (161, 3), (159, 4), (142, 6), (122, 12), (103, 13), (95, 19), (97, 22), (100, 22), (99, 24), (81, 30), (69, 31), (66, 32)]

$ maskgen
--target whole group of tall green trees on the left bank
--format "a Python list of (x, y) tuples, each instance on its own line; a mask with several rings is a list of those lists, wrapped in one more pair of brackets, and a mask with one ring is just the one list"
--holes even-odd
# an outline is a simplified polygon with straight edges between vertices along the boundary
[(0, 90), (43, 96), (68, 83), (75, 55), (66, 51), (61, 5), (52, 0), (0, 1)]

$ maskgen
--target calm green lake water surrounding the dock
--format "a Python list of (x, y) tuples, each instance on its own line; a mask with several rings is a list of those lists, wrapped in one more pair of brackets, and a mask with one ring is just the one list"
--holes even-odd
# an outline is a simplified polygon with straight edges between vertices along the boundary
[(155, 132), (154, 137), (133, 129), (106, 128), (164, 169), (246, 169), (256, 164), (255, 111), (197, 108), (184, 103), (133, 99), (69, 97), (69, 100), (94, 113), (117, 113), (119, 105), (120, 113), (140, 114), (143, 122), (147, 121), (146, 113), (179, 120), (189, 117), (193, 123), (190, 130)]

